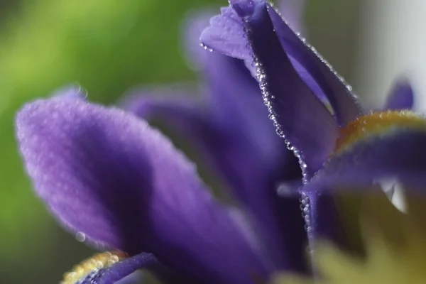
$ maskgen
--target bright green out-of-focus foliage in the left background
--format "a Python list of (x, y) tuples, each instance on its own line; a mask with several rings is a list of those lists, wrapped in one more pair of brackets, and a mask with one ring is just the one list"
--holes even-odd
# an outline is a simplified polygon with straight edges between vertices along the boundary
[[(43, 256), (31, 255), (43, 251), (51, 234), (51, 222), (46, 222), (45, 209), (33, 196), (16, 150), (16, 110), (64, 84), (78, 82), (88, 90), (89, 99), (111, 103), (138, 84), (190, 77), (180, 48), (182, 20), (189, 9), (218, 3), (26, 0), (2, 19), (1, 263), (22, 267), (26, 266), (24, 258), (29, 258), (33, 260), (31, 266), (43, 267), (35, 263)], [(34, 249), (37, 246), (33, 244), (40, 244), (40, 248)]]

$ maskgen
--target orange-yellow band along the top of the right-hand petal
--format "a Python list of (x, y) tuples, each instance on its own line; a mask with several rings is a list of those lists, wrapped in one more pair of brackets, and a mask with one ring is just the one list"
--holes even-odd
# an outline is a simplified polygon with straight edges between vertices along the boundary
[(381, 111), (360, 116), (340, 129), (334, 153), (344, 151), (368, 136), (381, 135), (401, 128), (426, 129), (426, 119), (413, 111)]

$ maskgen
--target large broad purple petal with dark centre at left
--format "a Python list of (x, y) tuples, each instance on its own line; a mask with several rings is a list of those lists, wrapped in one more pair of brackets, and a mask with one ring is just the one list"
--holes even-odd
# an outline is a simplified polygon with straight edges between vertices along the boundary
[[(28, 104), (16, 119), (35, 190), (72, 229), (206, 283), (265, 276), (251, 225), (145, 121), (80, 99)], [(252, 273), (252, 274), (250, 274)]]

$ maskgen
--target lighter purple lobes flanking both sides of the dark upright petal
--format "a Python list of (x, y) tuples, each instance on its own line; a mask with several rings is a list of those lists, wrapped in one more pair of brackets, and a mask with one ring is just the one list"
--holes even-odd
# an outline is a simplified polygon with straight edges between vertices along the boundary
[[(260, 21), (272, 21), (273, 30), (278, 36), (290, 62), (313, 92), (324, 100), (327, 97), (332, 105), (340, 126), (346, 126), (361, 112), (356, 97), (351, 93), (351, 87), (343, 82), (331, 66), (316, 53), (314, 48), (305, 44), (291, 28), (283, 21), (280, 14), (263, 0), (231, 1), (234, 9), (222, 9), (222, 15), (212, 18), (210, 26), (201, 35), (202, 43), (220, 53), (251, 61), (252, 45), (244, 38), (244, 26), (236, 21), (241, 13), (244, 20), (253, 18), (254, 13), (266, 6), (268, 13), (256, 17), (264, 17)], [(266, 20), (266, 18), (270, 18)], [(250, 21), (250, 20), (249, 20)], [(275, 36), (275, 35), (274, 35)]]

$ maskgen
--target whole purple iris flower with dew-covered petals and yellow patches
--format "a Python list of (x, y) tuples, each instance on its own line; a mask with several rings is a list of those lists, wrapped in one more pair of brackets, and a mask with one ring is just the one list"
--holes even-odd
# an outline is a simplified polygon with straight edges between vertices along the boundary
[[(425, 140), (415, 128), (417, 116), (360, 118), (351, 89), (267, 2), (231, 1), (202, 40), (226, 55), (201, 48), (195, 55), (205, 72), (206, 109), (185, 93), (185, 99), (163, 102), (138, 97), (126, 112), (90, 104), (80, 89), (66, 89), (18, 113), (20, 150), (40, 198), (68, 229), (129, 256), (97, 256), (87, 271), (68, 275), (69, 283), (114, 283), (138, 268), (170, 283), (256, 283), (278, 270), (310, 273), (307, 234), (346, 241), (324, 189), (413, 177), (426, 164), (424, 153), (411, 147)], [(262, 95), (285, 141), (268, 121)], [(413, 91), (401, 82), (386, 107), (412, 104)], [(153, 117), (201, 151), (226, 180), (235, 205), (213, 197), (195, 165), (144, 120)], [(381, 136), (395, 125), (403, 130)], [(407, 156), (389, 155), (396, 146)], [(422, 162), (414, 163), (415, 155)], [(302, 181), (305, 220), (296, 190)], [(278, 197), (280, 182), (295, 186)]]

